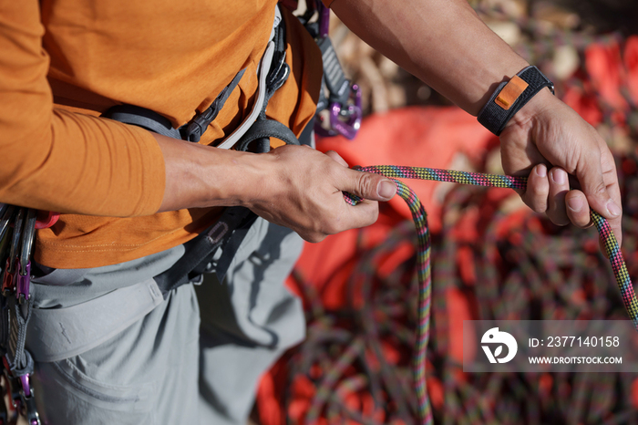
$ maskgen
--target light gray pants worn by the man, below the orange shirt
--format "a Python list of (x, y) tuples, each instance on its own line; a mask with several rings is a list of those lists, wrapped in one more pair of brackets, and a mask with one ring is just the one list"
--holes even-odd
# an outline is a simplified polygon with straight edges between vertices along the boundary
[[(183, 285), (77, 355), (55, 361), (36, 356), (41, 417), (49, 425), (245, 424), (262, 373), (304, 337), (301, 302), (283, 286), (301, 247), (296, 233), (260, 218), (222, 283), (211, 274), (200, 286)], [(124, 264), (56, 270), (34, 285), (36, 308), (86, 311), (86, 303), (135, 287), (179, 257), (176, 247)], [(46, 341), (37, 331), (46, 327), (33, 327), (36, 337), (27, 348), (37, 351)], [(69, 334), (60, 331), (70, 344)]]

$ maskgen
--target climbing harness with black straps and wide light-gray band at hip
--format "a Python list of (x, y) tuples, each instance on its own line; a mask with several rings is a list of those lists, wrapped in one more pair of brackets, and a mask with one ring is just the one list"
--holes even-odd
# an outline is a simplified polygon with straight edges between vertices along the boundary
[[(222, 141), (223, 148), (266, 151), (268, 137), (277, 137), (299, 144), (291, 130), (265, 116), (268, 100), (290, 75), (285, 63), (284, 27), (277, 11), (274, 17), (272, 39), (262, 57), (257, 99), (249, 117), (231, 136)], [(176, 139), (200, 140), (201, 134), (223, 108), (226, 99), (245, 71), (240, 71), (231, 83), (212, 102), (211, 107), (198, 112), (189, 123), (173, 129), (168, 119), (149, 109), (120, 105), (108, 109), (103, 117), (116, 119), (146, 130)], [(312, 126), (312, 124), (311, 124)], [(304, 131), (301, 142), (304, 142)], [(116, 335), (118, 332), (159, 306), (171, 291), (180, 285), (201, 283), (204, 273), (215, 273), (223, 280), (234, 254), (254, 223), (256, 215), (242, 207), (224, 209), (221, 217), (210, 228), (183, 244), (183, 253), (172, 266), (146, 281), (130, 285), (76, 306), (56, 309), (34, 309), (31, 312), (26, 347), (36, 361), (57, 361), (80, 354)], [(39, 284), (57, 285), (49, 275), (38, 277)], [(37, 291), (38, 285), (34, 286)]]

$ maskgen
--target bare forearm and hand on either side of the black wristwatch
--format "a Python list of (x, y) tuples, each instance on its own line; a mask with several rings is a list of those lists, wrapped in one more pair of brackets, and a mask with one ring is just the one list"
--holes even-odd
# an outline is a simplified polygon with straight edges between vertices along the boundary
[[(372, 47), (475, 116), (500, 82), (529, 65), (480, 21), (466, 0), (334, 0), (331, 8)], [(522, 196), (531, 208), (547, 213), (554, 223), (586, 227), (591, 205), (609, 220), (621, 242), (612, 154), (596, 131), (549, 89), (520, 109), (500, 141), (505, 171), (530, 175)], [(565, 171), (580, 187), (570, 191)]]

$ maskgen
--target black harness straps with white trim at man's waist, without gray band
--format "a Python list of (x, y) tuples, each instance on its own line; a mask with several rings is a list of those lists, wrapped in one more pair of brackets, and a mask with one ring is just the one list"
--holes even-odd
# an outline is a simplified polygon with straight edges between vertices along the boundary
[[(286, 64), (285, 57), (285, 25), (283, 25), (279, 8), (275, 7), (273, 32), (260, 62), (258, 92), (252, 112), (231, 135), (221, 141), (217, 148), (263, 153), (270, 150), (269, 138), (271, 137), (283, 140), (287, 144), (300, 144), (300, 140), (297, 140), (292, 130), (266, 117), (270, 98), (290, 76), (290, 67)], [(102, 117), (136, 125), (174, 139), (198, 142), (217, 117), (234, 88), (238, 86), (244, 73), (245, 69), (242, 69), (232, 78), (228, 86), (221, 90), (208, 109), (198, 112), (179, 129), (172, 128), (170, 120), (157, 112), (133, 105), (115, 106), (105, 111)], [(186, 253), (177, 264), (154, 277), (161, 293), (166, 296), (180, 285), (200, 282), (203, 273), (214, 271), (220, 281), (223, 280), (232, 257), (256, 219), (257, 215), (247, 208), (226, 208), (217, 223), (184, 244)], [(218, 258), (216, 253), (219, 251), (221, 251), (221, 257)]]

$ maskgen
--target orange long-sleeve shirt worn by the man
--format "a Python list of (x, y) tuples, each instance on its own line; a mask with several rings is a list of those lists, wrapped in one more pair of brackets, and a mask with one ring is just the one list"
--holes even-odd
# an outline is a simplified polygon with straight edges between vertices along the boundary
[[(51, 267), (117, 264), (182, 244), (219, 208), (156, 213), (164, 161), (146, 130), (98, 118), (119, 103), (175, 127), (246, 72), (201, 139), (216, 144), (250, 112), (275, 0), (21, 0), (0, 4), (0, 202), (65, 214), (38, 231)], [(321, 54), (287, 12), (291, 78), (270, 118), (299, 135), (314, 114)]]

